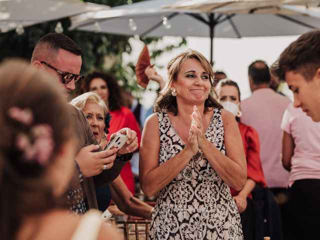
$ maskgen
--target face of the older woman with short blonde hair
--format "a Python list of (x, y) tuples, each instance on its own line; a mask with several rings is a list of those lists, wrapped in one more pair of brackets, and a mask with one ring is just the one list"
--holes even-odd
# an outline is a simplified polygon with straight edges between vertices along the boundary
[(87, 101), (82, 111), (90, 123), (95, 139), (100, 143), (103, 135), (103, 129), (105, 127), (102, 107), (96, 102)]

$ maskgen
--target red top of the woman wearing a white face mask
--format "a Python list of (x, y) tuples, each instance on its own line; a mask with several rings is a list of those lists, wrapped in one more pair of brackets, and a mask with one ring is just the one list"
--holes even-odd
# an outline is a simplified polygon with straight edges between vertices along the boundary
[[(253, 127), (247, 126), (241, 122), (239, 122), (238, 126), (246, 159), (247, 178), (252, 179), (256, 184), (266, 187), (260, 160), (260, 143), (258, 133)], [(238, 191), (232, 187), (230, 187), (230, 191), (232, 196), (238, 194)]]

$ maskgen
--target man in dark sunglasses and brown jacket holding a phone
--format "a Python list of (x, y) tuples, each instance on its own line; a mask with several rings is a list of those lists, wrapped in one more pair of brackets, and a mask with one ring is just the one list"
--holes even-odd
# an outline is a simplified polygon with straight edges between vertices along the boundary
[[(60, 33), (49, 33), (41, 37), (32, 52), (31, 64), (52, 74), (60, 83), (65, 96), (75, 89), (84, 75), (80, 73), (81, 48), (69, 37)], [(117, 133), (126, 134), (128, 141), (119, 150), (100, 151), (90, 125), (83, 112), (70, 105), (74, 116), (73, 131), (76, 136), (74, 177), (67, 192), (68, 207), (75, 214), (97, 208), (94, 184), (105, 185), (116, 178), (125, 162), (137, 149), (136, 132), (123, 128)], [(110, 137), (113, 138), (112, 136)], [(80, 180), (80, 184), (79, 184)]]

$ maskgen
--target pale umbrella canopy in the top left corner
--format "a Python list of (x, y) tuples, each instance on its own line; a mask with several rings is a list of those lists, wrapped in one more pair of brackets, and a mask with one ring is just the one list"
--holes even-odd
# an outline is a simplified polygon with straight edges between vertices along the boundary
[(0, 0), (0, 32), (18, 24), (30, 26), (86, 11), (109, 8), (106, 5), (78, 0)]

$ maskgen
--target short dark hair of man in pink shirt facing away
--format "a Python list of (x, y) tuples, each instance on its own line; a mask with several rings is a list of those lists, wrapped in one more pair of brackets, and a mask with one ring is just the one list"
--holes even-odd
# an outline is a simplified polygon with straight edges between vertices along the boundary
[(248, 75), (251, 77), (254, 85), (269, 83), (271, 76), (269, 67), (263, 60), (255, 60), (248, 67)]

